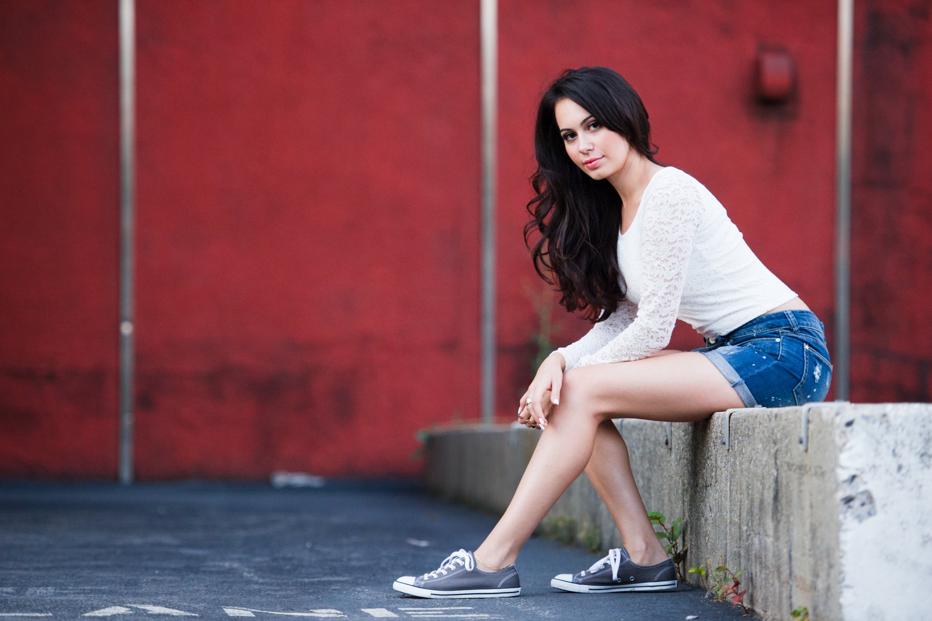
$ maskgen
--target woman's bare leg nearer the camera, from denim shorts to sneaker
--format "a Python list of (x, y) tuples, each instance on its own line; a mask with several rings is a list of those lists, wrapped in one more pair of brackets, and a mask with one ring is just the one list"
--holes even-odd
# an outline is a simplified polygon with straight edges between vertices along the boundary
[[(484, 569), (504, 567), (517, 559), (530, 534), (590, 462), (596, 431), (603, 421), (614, 415), (690, 422), (743, 405), (715, 365), (697, 352), (567, 371), (560, 405), (548, 417), (549, 425), (541, 434), (512, 502), (486, 541), (475, 550), (480, 564), (485, 565)], [(610, 502), (618, 506), (627, 497), (620, 490), (624, 490), (624, 483), (603, 488)], [(634, 490), (637, 494), (636, 487)], [(625, 515), (621, 512), (616, 520), (625, 520)]]

